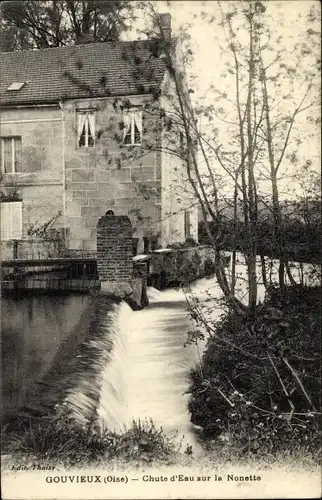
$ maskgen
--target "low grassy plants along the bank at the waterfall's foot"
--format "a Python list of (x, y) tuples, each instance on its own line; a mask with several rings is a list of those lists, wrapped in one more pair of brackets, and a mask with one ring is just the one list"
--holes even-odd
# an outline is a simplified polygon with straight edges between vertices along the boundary
[(6, 446), (13, 458), (59, 461), (65, 467), (106, 463), (114, 458), (169, 461), (178, 451), (174, 437), (157, 429), (152, 420), (133, 421), (123, 433), (98, 431), (94, 426), (78, 426), (62, 408), (49, 420), (32, 422), (20, 434), (9, 434)]

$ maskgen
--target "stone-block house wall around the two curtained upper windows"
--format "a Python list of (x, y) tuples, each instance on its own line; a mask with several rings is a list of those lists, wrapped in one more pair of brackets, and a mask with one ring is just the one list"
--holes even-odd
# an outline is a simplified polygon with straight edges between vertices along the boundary
[[(106, 98), (64, 103), (66, 226), (70, 249), (95, 250), (97, 220), (107, 210), (130, 218), (133, 237), (140, 239), (141, 247), (144, 236), (160, 235), (161, 161), (154, 148), (149, 150), (149, 145), (158, 140), (160, 118), (144, 111), (151, 96), (128, 99), (131, 105), (143, 108), (142, 144), (138, 146), (123, 144), (122, 102), (116, 105), (116, 99)], [(79, 109), (95, 110), (94, 147), (77, 147)]]

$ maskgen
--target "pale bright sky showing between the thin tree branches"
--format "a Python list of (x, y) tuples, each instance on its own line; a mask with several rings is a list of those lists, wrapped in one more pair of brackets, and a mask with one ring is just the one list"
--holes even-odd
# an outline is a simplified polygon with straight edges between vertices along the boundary
[[(223, 4), (227, 2), (224, 1)], [(237, 3), (237, 2), (235, 2)], [(292, 62), (293, 47), (299, 41), (303, 33), (303, 19), (304, 15), (309, 11), (312, 4), (317, 4), (315, 0), (283, 0), (269, 2), (270, 13), (272, 14), (272, 26), (274, 26), (273, 36), (281, 33), (283, 36), (283, 43), (285, 44), (285, 58), (288, 63)], [(221, 73), (225, 70), (225, 36), (223, 29), (219, 26), (220, 11), (218, 2), (216, 1), (158, 1), (158, 10), (160, 13), (170, 12), (172, 17), (172, 33), (173, 36), (180, 36), (182, 28), (185, 28), (191, 35), (189, 48), (194, 54), (191, 66), (188, 66), (187, 73), (190, 78), (190, 85), (194, 90), (192, 99), (198, 105), (200, 102), (211, 104), (214, 101), (214, 93), (209, 90), (213, 85), (217, 86), (220, 90), (226, 90), (228, 95), (234, 99), (235, 80), (234, 76), (228, 75), (225, 79), (221, 78)], [(214, 21), (209, 23), (204, 18), (203, 12), (210, 17), (214, 17)], [(141, 29), (144, 26), (145, 16), (141, 16), (136, 23), (136, 28)], [(276, 32), (275, 31), (276, 27)], [(137, 38), (135, 30), (133, 29), (129, 35), (131, 38)], [(247, 36), (247, 34), (246, 34)], [(240, 38), (242, 40), (242, 38)], [(224, 47), (224, 51), (220, 50), (220, 45)], [(228, 51), (227, 51), (228, 53)], [(294, 66), (296, 65), (294, 60)], [(297, 83), (296, 83), (297, 85)], [(288, 111), (287, 105), (290, 106), (300, 99), (303, 95), (303, 86), (300, 85), (290, 88), (292, 94), (291, 100), (284, 101), (285, 113)], [(285, 90), (285, 89), (284, 89)], [(296, 99), (294, 99), (296, 98)], [(227, 108), (228, 109), (228, 108)], [(283, 110), (283, 107), (281, 108)], [(289, 107), (289, 111), (293, 109)], [(232, 108), (231, 108), (232, 111)], [(311, 110), (309, 111), (311, 113)], [(229, 113), (229, 110), (228, 110)], [(320, 111), (315, 110), (315, 116), (319, 115)], [(300, 161), (304, 162), (306, 157), (313, 159), (312, 169), (320, 170), (320, 127), (309, 126), (307, 122), (307, 114), (303, 113), (298, 122), (297, 131), (301, 135), (302, 140), (305, 139), (299, 149)], [(215, 125), (214, 125), (215, 123)], [(208, 123), (206, 119), (201, 119), (201, 126), (205, 130), (211, 130), (209, 127), (220, 129), (223, 136), (229, 133), (227, 124), (217, 120), (217, 117)], [(294, 179), (294, 167), (286, 161), (285, 164), (285, 179), (281, 182), (281, 195), (288, 198), (293, 197), (294, 192), (299, 193), (302, 191), (298, 179)], [(216, 169), (218, 169), (216, 165)], [(291, 178), (292, 177), (292, 178)], [(266, 186), (266, 187), (265, 187)], [(229, 192), (230, 185), (227, 183), (225, 192)], [(265, 191), (267, 184), (263, 184)]]

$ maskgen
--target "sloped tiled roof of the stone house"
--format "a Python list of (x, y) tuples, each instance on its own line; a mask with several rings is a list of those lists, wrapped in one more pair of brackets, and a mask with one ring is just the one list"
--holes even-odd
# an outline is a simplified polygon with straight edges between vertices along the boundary
[[(166, 66), (157, 41), (2, 52), (0, 102), (18, 105), (155, 92)], [(13, 82), (26, 82), (8, 91)]]

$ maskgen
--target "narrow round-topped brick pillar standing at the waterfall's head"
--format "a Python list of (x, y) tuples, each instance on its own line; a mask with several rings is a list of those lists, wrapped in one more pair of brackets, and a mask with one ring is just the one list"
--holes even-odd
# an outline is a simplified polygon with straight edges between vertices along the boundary
[(104, 215), (97, 224), (97, 270), (101, 281), (130, 283), (132, 224), (124, 215)]

